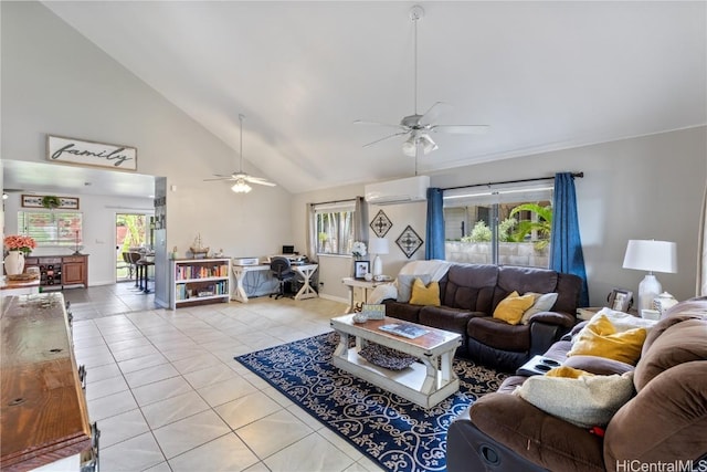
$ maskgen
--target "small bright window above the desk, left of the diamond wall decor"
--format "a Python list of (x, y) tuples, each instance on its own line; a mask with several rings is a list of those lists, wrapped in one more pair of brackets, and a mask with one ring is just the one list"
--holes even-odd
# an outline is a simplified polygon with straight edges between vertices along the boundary
[(314, 206), (318, 254), (351, 254), (354, 200)]

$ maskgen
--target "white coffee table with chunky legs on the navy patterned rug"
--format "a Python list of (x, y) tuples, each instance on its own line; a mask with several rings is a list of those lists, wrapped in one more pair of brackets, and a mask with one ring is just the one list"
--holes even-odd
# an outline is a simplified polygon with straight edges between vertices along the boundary
[[(358, 324), (354, 323), (352, 318), (354, 315), (331, 318), (331, 327), (340, 336), (339, 345), (331, 358), (336, 367), (424, 408), (437, 405), (460, 389), (460, 379), (452, 367), (454, 352), (462, 344), (458, 334), (415, 325), (428, 333), (409, 339), (380, 331), (379, 327), (392, 323), (413, 323), (386, 317)], [(356, 336), (355, 348), (349, 348), (349, 336)], [(390, 370), (373, 365), (358, 354), (368, 342), (414, 356), (420, 363), (413, 363), (402, 370)]]

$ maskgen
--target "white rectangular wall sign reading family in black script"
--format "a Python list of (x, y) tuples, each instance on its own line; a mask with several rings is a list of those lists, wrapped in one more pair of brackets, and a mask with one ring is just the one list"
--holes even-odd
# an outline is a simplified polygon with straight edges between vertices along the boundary
[(46, 160), (116, 170), (137, 170), (137, 149), (117, 144), (46, 135)]

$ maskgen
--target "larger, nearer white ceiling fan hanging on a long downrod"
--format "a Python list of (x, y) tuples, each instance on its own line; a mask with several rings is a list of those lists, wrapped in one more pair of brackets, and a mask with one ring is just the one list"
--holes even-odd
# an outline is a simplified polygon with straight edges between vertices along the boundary
[(424, 114), (418, 113), (418, 21), (424, 17), (424, 10), (420, 6), (414, 6), (410, 10), (410, 19), (414, 24), (414, 114), (404, 116), (399, 125), (391, 125), (386, 123), (365, 122), (357, 119), (354, 122), (356, 125), (376, 125), (393, 127), (398, 130), (392, 135), (376, 139), (372, 143), (363, 145), (369, 147), (374, 144), (384, 141), (395, 136), (409, 135), (408, 139), (402, 144), (402, 151), (405, 156), (415, 157), (418, 147), (422, 148), (424, 154), (429, 154), (437, 149), (436, 143), (430, 136), (430, 133), (447, 133), (447, 134), (463, 134), (475, 135), (484, 134), (488, 130), (488, 125), (440, 125), (436, 124), (440, 109), (445, 105), (443, 102), (436, 102)]

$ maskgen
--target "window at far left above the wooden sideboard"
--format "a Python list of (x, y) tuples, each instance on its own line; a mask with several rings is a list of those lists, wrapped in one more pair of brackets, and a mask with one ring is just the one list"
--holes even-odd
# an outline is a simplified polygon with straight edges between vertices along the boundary
[(18, 211), (19, 232), (34, 238), (38, 247), (76, 247), (83, 241), (83, 213)]

